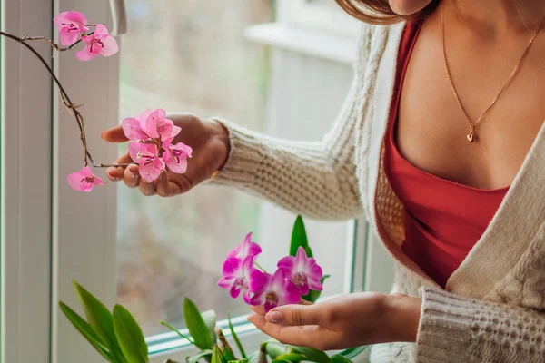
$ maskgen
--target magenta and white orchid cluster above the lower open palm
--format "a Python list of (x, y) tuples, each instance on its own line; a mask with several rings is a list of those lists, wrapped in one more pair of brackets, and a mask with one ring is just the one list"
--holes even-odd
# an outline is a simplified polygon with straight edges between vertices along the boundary
[(247, 304), (264, 305), (269, 311), (277, 306), (298, 303), (310, 290), (323, 289), (322, 268), (302, 247), (296, 256), (279, 260), (272, 275), (254, 267), (261, 252), (261, 247), (252, 241), (252, 233), (249, 233), (243, 243), (227, 255), (223, 262), (223, 278), (218, 285), (230, 289), (233, 299), (243, 293)]

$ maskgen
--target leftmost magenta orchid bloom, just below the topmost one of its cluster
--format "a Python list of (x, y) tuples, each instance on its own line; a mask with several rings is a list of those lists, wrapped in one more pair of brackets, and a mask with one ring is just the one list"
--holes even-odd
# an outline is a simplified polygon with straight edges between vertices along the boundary
[(230, 289), (233, 299), (244, 292), (244, 301), (250, 303), (248, 288), (253, 259), (253, 256), (248, 256), (244, 260), (230, 258), (223, 262), (223, 278), (218, 281), (218, 285), (223, 289)]

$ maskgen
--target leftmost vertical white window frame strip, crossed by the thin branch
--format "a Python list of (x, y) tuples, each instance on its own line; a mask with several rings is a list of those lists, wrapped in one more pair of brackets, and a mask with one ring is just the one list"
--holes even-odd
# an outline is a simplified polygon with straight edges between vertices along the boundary
[[(2, 0), (2, 30), (52, 33), (51, 3)], [(51, 48), (34, 44), (51, 63)], [(49, 363), (51, 77), (33, 54), (2, 38), (2, 362)]]

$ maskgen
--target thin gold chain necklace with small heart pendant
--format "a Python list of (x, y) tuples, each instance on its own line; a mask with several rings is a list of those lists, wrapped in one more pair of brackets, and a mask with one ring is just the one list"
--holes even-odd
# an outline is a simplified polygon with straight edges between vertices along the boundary
[(543, 26), (543, 24), (545, 24), (545, 16), (543, 16), (543, 19), (541, 19), (541, 23), (540, 23), (540, 26), (538, 26), (538, 29), (536, 30), (536, 32), (532, 35), (532, 37), (530, 38), (530, 42), (528, 43), (528, 45), (526, 46), (526, 49), (524, 50), (524, 53), (522, 53), (522, 55), (520, 56), (520, 60), (519, 62), (517, 63), (517, 65), (515, 65), (515, 69), (513, 69), (513, 72), (511, 72), (510, 76), (509, 76), (509, 79), (507, 80), (507, 82), (503, 85), (503, 87), (501, 87), (501, 90), (500, 90), (500, 93), (498, 93), (498, 95), (496, 97), (494, 97), (494, 99), (492, 100), (492, 102), (490, 103), (490, 105), (488, 106), (488, 108), (484, 111), (484, 113), (481, 114), (481, 116), (479, 116), (479, 118), (477, 119), (477, 121), (475, 121), (474, 123), (471, 122), (471, 118), (470, 116), (468, 115), (468, 113), (466, 112), (465, 108), (463, 107), (463, 105), (461, 104), (461, 100), (460, 100), (460, 96), (458, 95), (458, 92), (456, 91), (456, 87), (454, 87), (454, 83), (452, 82), (452, 75), (451, 75), (451, 68), (449, 67), (449, 62), (447, 62), (447, 51), (445, 49), (445, 14), (444, 14), (444, 5), (441, 6), (441, 31), (442, 31), (442, 49), (443, 49), (443, 59), (445, 61), (445, 67), (447, 68), (447, 74), (449, 75), (449, 82), (451, 83), (451, 89), (452, 89), (452, 93), (454, 93), (454, 97), (456, 97), (456, 101), (458, 102), (458, 104), (460, 105), (460, 108), (461, 108), (461, 112), (463, 113), (466, 121), (470, 124), (470, 133), (467, 135), (467, 138), (468, 138), (468, 142), (474, 142), (475, 140), (477, 140), (477, 134), (475, 132), (475, 127), (477, 126), (478, 123), (481, 123), (482, 119), (484, 118), (484, 116), (489, 113), (490, 109), (494, 106), (494, 104), (496, 104), (498, 102), (498, 100), (500, 99), (500, 96), (501, 94), (505, 91), (505, 89), (510, 85), (511, 81), (513, 80), (513, 78), (515, 77), (515, 74), (517, 74), (517, 72), (519, 72), (519, 68), (520, 68), (520, 64), (522, 64), (522, 61), (524, 60), (524, 58), (526, 57), (526, 54), (528, 54), (528, 51), (530, 51), (530, 47), (531, 47), (531, 44), (534, 43), (534, 40), (536, 39), (536, 37), (538, 36), (538, 34), (540, 33), (540, 30), (541, 30), (541, 27)]

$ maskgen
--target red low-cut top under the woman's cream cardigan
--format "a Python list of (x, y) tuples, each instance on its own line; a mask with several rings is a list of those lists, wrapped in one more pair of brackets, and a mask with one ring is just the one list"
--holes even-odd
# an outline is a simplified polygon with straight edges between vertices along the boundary
[(454, 270), (481, 238), (509, 187), (487, 191), (441, 179), (403, 158), (395, 144), (401, 87), (420, 25), (402, 35), (396, 85), (385, 138), (384, 170), (405, 207), (403, 252), (445, 287)]

